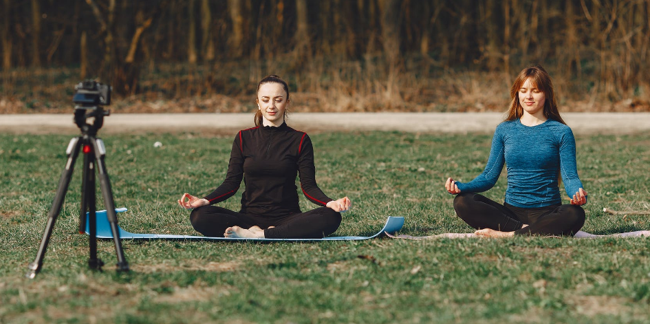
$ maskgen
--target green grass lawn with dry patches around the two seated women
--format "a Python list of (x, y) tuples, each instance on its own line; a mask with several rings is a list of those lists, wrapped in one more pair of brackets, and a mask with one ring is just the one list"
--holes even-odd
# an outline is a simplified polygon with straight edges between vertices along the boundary
[[(233, 134), (234, 135), (234, 134)], [(650, 323), (647, 238), (372, 239), (322, 243), (123, 241), (129, 273), (117, 273), (111, 241), (103, 272), (87, 268), (76, 233), (80, 162), (42, 272), (24, 279), (72, 136), (0, 134), (0, 323)], [(120, 226), (195, 235), (184, 192), (223, 179), (234, 136), (106, 136)], [(446, 177), (470, 180), (491, 136), (398, 132), (312, 134), (317, 179), (348, 195), (335, 235), (368, 235), (388, 215), (401, 233), (469, 232), (454, 217)], [(160, 141), (162, 148), (154, 148)], [(578, 136), (578, 171), (589, 192), (589, 233), (650, 228), (650, 135)], [(505, 179), (486, 195), (501, 200)], [(98, 195), (99, 196), (99, 195)], [(221, 206), (237, 209), (239, 195)], [(98, 198), (102, 208), (101, 199)], [(303, 209), (314, 205), (301, 197)]]

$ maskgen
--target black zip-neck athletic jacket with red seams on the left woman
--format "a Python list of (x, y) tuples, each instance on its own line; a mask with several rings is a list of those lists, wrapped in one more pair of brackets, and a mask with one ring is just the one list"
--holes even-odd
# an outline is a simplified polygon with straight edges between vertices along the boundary
[(307, 133), (285, 123), (244, 129), (232, 143), (226, 180), (205, 199), (216, 204), (232, 197), (243, 177), (241, 213), (270, 217), (300, 213), (296, 175), (311, 202), (325, 206), (333, 200), (316, 184), (314, 149)]

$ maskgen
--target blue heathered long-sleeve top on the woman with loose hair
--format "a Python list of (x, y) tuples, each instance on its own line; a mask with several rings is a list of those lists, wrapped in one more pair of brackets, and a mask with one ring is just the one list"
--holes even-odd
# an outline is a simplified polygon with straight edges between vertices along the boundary
[(481, 193), (497, 183), (503, 164), (508, 172), (505, 201), (512, 206), (534, 208), (562, 202), (558, 172), (564, 188), (573, 195), (583, 184), (576, 166), (576, 140), (570, 127), (548, 119), (528, 127), (519, 120), (497, 126), (490, 158), (483, 173), (468, 183), (456, 182), (462, 193)]

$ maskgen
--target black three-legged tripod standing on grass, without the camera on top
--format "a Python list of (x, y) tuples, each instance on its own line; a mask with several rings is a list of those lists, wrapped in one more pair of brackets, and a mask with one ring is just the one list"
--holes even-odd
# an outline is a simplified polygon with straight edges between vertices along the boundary
[[(47, 226), (45, 226), (45, 233), (41, 239), (41, 247), (39, 252), (36, 253), (36, 259), (30, 263), (29, 272), (25, 277), (34, 279), (36, 274), (43, 268), (43, 257), (45, 257), (45, 250), (47, 244), (50, 242), (52, 230), (54, 229), (54, 222), (59, 213), (61, 213), (61, 206), (65, 199), (65, 193), (72, 178), (72, 171), (74, 171), (74, 162), (76, 161), (79, 151), (83, 152), (83, 174), (81, 184), (81, 210), (79, 217), (79, 233), (84, 233), (86, 228), (86, 212), (88, 216), (89, 228), (89, 247), (90, 258), (88, 259), (88, 266), (91, 269), (101, 270), (104, 265), (102, 260), (97, 258), (97, 228), (96, 228), (96, 185), (95, 185), (95, 168), (100, 180), (100, 188), (102, 197), (106, 207), (106, 215), (111, 225), (111, 232), (113, 233), (113, 241), (115, 243), (115, 250), (118, 255), (118, 271), (129, 271), (129, 263), (124, 259), (124, 252), (122, 251), (122, 243), (120, 241), (120, 232), (118, 230), (118, 218), (115, 213), (115, 202), (113, 200), (113, 192), (111, 191), (111, 182), (106, 172), (106, 164), (104, 158), (106, 149), (104, 142), (100, 138), (96, 138), (97, 131), (104, 123), (104, 116), (109, 116), (110, 111), (105, 111), (102, 107), (83, 107), (77, 106), (74, 109), (74, 123), (81, 130), (81, 136), (72, 138), (67, 146), (65, 153), (67, 154), (67, 162), (65, 169), (61, 173), (61, 180), (58, 182), (52, 208), (47, 218)], [(94, 122), (89, 124), (88, 118), (94, 118)]]

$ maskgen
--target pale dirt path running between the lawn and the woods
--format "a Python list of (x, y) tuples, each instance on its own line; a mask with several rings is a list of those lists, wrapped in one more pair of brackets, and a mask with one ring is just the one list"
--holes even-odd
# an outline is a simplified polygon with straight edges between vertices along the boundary
[[(574, 133), (650, 131), (650, 113), (567, 113)], [(500, 113), (295, 113), (288, 124), (303, 131), (409, 131), (491, 133)], [(102, 133), (205, 132), (232, 134), (252, 127), (252, 114), (113, 114)], [(4, 133), (76, 133), (70, 114), (0, 115)]]

